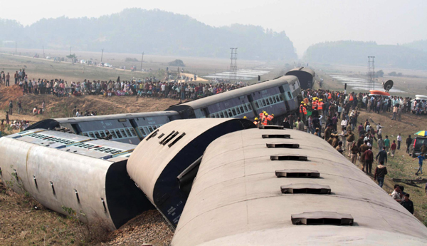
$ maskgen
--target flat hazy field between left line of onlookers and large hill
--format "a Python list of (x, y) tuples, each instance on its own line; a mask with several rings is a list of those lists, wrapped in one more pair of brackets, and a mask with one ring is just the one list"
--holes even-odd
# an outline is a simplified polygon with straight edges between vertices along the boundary
[[(84, 78), (93, 79), (116, 79), (118, 75), (123, 79), (130, 78), (145, 78), (148, 73), (131, 73), (120, 72), (119, 69), (109, 69), (109, 68), (94, 68), (94, 66), (85, 66), (83, 64), (75, 64), (74, 66), (70, 63), (57, 63), (53, 60), (43, 59), (43, 50), (41, 49), (19, 49), (16, 56), (12, 54), (15, 52), (14, 48), (3, 48), (0, 54), (0, 68), (4, 71), (16, 71), (16, 68), (21, 68), (23, 66), (28, 67), (28, 73), (34, 74), (36, 78), (45, 78), (46, 76), (53, 76), (50, 78), (64, 78), (68, 81), (83, 81)], [(228, 51), (227, 51), (228, 52)], [(32, 58), (36, 53), (41, 58)], [(56, 51), (56, 50), (45, 50), (46, 56), (58, 56), (65, 57), (68, 56), (70, 51)], [(100, 52), (88, 52), (88, 51), (71, 51), (75, 53), (78, 57), (78, 60), (90, 60), (100, 63), (101, 61), (101, 51)], [(127, 62), (126, 58), (135, 58), (137, 61)], [(137, 69), (141, 67), (141, 58), (142, 54), (136, 53), (107, 53), (102, 54), (102, 62), (110, 63), (117, 68), (120, 66), (126, 66), (127, 69), (130, 69), (131, 66), (137, 66)], [(65, 58), (66, 59), (66, 58)], [(207, 75), (209, 73), (216, 73), (220, 71), (229, 71), (230, 70), (230, 60), (224, 58), (199, 58), (199, 57), (177, 57), (177, 56), (154, 56), (149, 54), (144, 54), (144, 63), (142, 68), (149, 70), (155, 73), (159, 69), (166, 70), (167, 67), (171, 71), (175, 71), (178, 67), (169, 66), (167, 63), (174, 61), (175, 59), (181, 59), (184, 64), (185, 71), (189, 73), (197, 74), (198, 76)], [(66, 59), (69, 60), (69, 59)], [(9, 64), (9, 61), (11, 63)], [(69, 60), (70, 61), (70, 60)], [(29, 66), (28, 66), (29, 64)], [(248, 60), (238, 60), (238, 68), (257, 68), (262, 66), (277, 66), (278, 63), (265, 62), (265, 61), (248, 61)], [(3, 69), (4, 68), (4, 69)], [(28, 78), (33, 78), (29, 76)]]

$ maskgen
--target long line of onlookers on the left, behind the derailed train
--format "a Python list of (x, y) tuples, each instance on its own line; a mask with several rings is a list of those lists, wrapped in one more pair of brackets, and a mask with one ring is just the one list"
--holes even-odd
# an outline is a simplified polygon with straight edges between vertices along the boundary
[[(0, 82), (10, 86), (9, 73), (0, 73)], [(212, 81), (211, 81), (212, 82)], [(14, 73), (14, 84), (21, 87), (23, 94), (52, 94), (58, 97), (103, 95), (109, 96), (141, 96), (155, 98), (179, 98), (181, 100), (211, 96), (224, 91), (231, 91), (246, 86), (246, 83), (196, 83), (192, 78), (186, 81), (160, 81), (154, 76), (144, 79), (121, 81), (64, 81), (63, 79), (28, 79), (25, 69)], [(12, 84), (13, 85), (13, 84)]]

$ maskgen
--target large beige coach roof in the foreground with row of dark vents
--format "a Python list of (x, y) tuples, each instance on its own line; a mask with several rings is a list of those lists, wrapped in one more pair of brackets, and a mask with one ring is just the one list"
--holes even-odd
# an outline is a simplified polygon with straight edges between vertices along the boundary
[(427, 227), (325, 140), (269, 127), (209, 144), (172, 246), (427, 245)]

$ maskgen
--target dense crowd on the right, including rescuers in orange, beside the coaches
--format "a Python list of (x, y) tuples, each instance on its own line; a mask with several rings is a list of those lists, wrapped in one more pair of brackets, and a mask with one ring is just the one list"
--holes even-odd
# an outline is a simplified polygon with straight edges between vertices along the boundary
[[(358, 123), (361, 110), (375, 113), (390, 112), (392, 113), (391, 120), (401, 121), (402, 113), (412, 111), (415, 111), (416, 115), (426, 113), (426, 102), (412, 101), (411, 98), (398, 96), (389, 98), (370, 96), (368, 93), (349, 93), (347, 95), (342, 91), (309, 89), (302, 91), (299, 117), (289, 115), (285, 118), (283, 126), (306, 130), (307, 133), (324, 138), (339, 153), (347, 155), (354, 165), (359, 162), (362, 170), (367, 174), (372, 174), (372, 169), (374, 169), (374, 180), (382, 188), (384, 178), (388, 173), (386, 163), (388, 158), (394, 158), (396, 150), (401, 149), (402, 135), (399, 133), (396, 135), (396, 139), (392, 140), (389, 135), (384, 135), (384, 127), (381, 123), (369, 122), (369, 119)], [(377, 152), (374, 149), (374, 143), (377, 144)], [(409, 153), (411, 143), (411, 135), (408, 135), (406, 139), (407, 153)], [(421, 147), (421, 154), (413, 159), (418, 160), (419, 168), (416, 175), (422, 174), (426, 153), (427, 146), (424, 144)], [(409, 194), (404, 193), (403, 187), (395, 187), (391, 196), (413, 213), (413, 203), (409, 200)]]

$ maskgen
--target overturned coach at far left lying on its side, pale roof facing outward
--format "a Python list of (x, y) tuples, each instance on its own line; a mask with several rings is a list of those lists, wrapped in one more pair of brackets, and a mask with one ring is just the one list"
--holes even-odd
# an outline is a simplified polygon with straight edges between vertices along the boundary
[(33, 129), (0, 138), (1, 180), (45, 207), (114, 230), (153, 209), (127, 175), (136, 145)]

